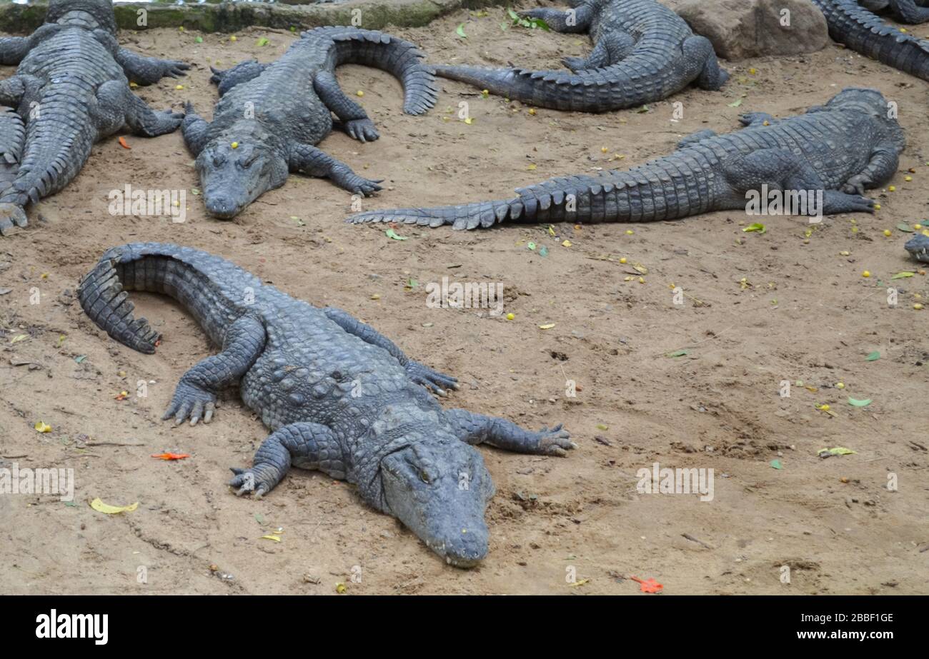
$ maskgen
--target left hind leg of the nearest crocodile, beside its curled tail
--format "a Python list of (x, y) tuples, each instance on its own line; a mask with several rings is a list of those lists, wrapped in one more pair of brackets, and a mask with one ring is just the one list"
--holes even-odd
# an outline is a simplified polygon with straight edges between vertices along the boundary
[(226, 330), (223, 350), (206, 357), (181, 376), (171, 404), (162, 419), (174, 417), (180, 425), (190, 417), (190, 425), (213, 419), (216, 394), (242, 379), (265, 347), (265, 326), (255, 317), (235, 320)]

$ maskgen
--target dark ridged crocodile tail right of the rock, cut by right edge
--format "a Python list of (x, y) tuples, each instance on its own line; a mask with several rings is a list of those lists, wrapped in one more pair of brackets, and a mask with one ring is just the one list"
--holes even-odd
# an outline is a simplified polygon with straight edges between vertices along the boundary
[(929, 41), (888, 25), (856, 0), (813, 0), (830, 36), (857, 53), (929, 81)]

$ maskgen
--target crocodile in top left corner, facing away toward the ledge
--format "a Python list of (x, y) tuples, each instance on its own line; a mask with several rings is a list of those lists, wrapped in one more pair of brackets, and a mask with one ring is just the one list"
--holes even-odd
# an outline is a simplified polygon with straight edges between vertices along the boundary
[(30, 36), (0, 38), (0, 64), (19, 64), (0, 82), (0, 234), (26, 226), (26, 205), (67, 186), (98, 140), (124, 127), (164, 135), (183, 118), (151, 110), (129, 82), (154, 84), (189, 65), (120, 47), (111, 0), (50, 0)]

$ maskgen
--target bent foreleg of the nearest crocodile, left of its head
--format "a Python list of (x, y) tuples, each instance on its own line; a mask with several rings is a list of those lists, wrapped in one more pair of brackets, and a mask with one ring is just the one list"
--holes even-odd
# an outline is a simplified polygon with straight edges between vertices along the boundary
[(312, 469), (338, 480), (346, 477), (342, 446), (333, 431), (320, 423), (299, 421), (269, 434), (255, 453), (251, 469), (232, 468), (229, 481), (238, 487), (236, 496), (254, 492), (261, 498), (281, 483), (291, 465)]

